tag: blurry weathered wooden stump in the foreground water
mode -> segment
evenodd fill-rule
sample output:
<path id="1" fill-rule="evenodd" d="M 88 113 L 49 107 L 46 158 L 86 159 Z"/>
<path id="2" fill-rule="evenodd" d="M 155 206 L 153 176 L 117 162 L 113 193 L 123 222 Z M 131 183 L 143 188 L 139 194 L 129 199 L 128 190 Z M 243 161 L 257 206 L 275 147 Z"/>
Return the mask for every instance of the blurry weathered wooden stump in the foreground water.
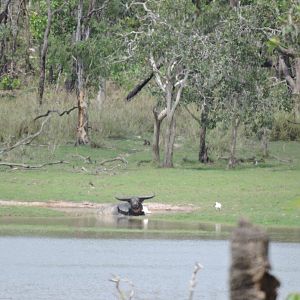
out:
<path id="1" fill-rule="evenodd" d="M 231 238 L 231 300 L 274 300 L 279 281 L 269 273 L 269 239 L 260 228 L 241 220 Z"/>

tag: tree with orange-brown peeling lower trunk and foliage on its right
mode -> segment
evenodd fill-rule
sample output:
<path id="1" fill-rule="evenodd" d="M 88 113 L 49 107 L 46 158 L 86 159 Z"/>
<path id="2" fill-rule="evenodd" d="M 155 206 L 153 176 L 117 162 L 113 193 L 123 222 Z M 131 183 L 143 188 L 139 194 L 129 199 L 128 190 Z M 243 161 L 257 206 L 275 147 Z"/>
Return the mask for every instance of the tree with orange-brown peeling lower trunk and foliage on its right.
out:
<path id="1" fill-rule="evenodd" d="M 87 87 L 99 85 L 99 78 L 101 81 L 118 70 L 110 62 L 118 51 L 114 34 L 125 16 L 124 9 L 120 0 L 78 0 L 73 55 L 77 75 L 77 145 L 89 143 Z"/>

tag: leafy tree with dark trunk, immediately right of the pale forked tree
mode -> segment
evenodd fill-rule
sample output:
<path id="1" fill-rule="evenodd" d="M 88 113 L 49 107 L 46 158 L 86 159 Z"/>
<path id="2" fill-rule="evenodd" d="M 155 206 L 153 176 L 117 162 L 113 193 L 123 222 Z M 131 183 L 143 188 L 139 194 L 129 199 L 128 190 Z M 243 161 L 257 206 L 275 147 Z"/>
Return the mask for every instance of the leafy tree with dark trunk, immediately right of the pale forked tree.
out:
<path id="1" fill-rule="evenodd" d="M 198 160 L 207 163 L 209 161 L 206 144 L 207 129 L 212 129 L 220 121 L 219 103 L 214 97 L 214 89 L 222 80 L 223 66 L 220 65 L 219 57 L 216 56 L 215 31 L 226 18 L 226 14 L 224 15 L 223 12 L 228 10 L 228 5 L 227 3 L 212 1 L 194 2 L 197 11 L 192 34 L 201 37 L 201 39 L 198 38 L 197 43 L 193 45 L 194 59 L 189 62 L 193 71 L 189 86 L 184 92 L 184 107 L 199 124 Z M 195 115 L 189 109 L 191 103 L 196 104 L 199 115 Z"/>

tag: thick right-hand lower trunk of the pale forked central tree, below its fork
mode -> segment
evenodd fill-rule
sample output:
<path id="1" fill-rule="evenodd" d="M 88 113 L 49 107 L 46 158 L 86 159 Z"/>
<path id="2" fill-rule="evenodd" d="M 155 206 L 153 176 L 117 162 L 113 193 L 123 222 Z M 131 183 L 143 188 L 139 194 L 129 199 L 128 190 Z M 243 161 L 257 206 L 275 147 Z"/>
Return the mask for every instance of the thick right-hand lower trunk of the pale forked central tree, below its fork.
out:
<path id="1" fill-rule="evenodd" d="M 164 168 L 173 168 L 173 150 L 175 143 L 176 122 L 175 116 L 167 116 L 167 128 L 165 135 L 165 156 L 163 161 Z"/>

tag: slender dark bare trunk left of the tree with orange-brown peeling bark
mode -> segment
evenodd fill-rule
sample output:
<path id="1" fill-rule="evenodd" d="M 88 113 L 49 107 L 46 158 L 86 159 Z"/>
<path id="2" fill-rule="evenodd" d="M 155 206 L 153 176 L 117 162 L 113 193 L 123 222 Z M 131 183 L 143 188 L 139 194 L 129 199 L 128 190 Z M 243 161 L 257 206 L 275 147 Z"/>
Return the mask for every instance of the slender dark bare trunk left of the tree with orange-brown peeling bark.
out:
<path id="1" fill-rule="evenodd" d="M 38 102 L 39 105 L 43 104 L 43 95 L 45 89 L 45 77 L 46 77 L 46 57 L 48 51 L 48 39 L 51 29 L 52 23 L 52 11 L 51 11 L 51 1 L 47 0 L 47 8 L 48 8 L 48 20 L 47 26 L 44 32 L 44 41 L 43 46 L 40 52 L 40 77 L 39 77 L 39 86 L 38 86 Z"/>

